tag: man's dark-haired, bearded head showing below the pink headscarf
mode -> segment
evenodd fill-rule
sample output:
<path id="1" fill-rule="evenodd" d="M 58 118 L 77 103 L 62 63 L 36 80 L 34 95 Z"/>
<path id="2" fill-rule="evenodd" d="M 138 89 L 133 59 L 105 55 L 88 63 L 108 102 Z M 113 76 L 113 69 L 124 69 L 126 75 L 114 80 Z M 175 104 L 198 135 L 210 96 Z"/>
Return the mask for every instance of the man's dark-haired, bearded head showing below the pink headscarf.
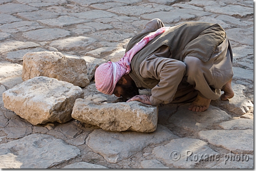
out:
<path id="1" fill-rule="evenodd" d="M 124 75 L 117 82 L 113 94 L 117 97 L 122 96 L 123 98 L 129 99 L 135 95 L 139 95 L 139 89 L 129 75 Z"/>

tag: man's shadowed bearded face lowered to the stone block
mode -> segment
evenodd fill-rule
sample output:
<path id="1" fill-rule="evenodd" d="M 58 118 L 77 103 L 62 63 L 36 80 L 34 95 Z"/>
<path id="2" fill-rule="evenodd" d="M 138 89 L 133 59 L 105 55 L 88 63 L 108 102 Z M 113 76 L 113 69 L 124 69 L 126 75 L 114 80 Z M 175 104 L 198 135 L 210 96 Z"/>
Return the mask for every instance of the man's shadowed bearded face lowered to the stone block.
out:
<path id="1" fill-rule="evenodd" d="M 127 84 L 117 83 L 113 94 L 119 98 L 122 96 L 123 98 L 129 99 L 135 95 L 139 95 L 139 89 L 133 82 L 127 82 Z"/>

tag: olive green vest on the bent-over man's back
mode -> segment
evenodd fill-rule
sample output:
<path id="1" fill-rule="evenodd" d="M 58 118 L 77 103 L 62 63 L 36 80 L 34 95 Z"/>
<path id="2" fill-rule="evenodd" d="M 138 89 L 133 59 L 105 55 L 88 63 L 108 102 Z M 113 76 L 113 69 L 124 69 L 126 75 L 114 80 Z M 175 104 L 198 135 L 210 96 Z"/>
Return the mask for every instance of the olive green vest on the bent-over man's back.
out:
<path id="1" fill-rule="evenodd" d="M 151 30 L 136 35 L 128 43 L 126 52 L 137 42 L 144 38 Z M 147 56 L 153 53 L 160 46 L 167 45 L 170 48 L 170 58 L 183 61 L 186 56 L 198 57 L 208 62 L 216 47 L 226 38 L 226 33 L 219 24 L 207 22 L 184 22 L 171 27 L 164 33 L 156 36 L 147 45 L 137 52 L 131 60 L 131 72 L 129 76 L 135 81 L 137 87 L 153 88 L 159 80 L 144 79 L 139 74 L 139 65 Z"/>

